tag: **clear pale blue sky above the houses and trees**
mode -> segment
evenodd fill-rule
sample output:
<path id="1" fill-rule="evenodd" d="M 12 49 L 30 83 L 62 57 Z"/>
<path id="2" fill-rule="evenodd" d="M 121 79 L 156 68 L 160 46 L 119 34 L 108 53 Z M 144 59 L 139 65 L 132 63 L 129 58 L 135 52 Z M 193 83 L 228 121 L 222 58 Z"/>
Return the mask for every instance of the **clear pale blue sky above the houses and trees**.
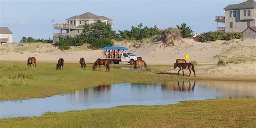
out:
<path id="1" fill-rule="evenodd" d="M 65 19 L 91 12 L 114 21 L 114 30 L 131 26 L 157 25 L 160 29 L 186 23 L 196 33 L 216 30 L 215 16 L 224 16 L 228 4 L 246 0 L 0 0 L 0 26 L 14 33 L 14 42 L 23 36 L 52 38 L 52 19 Z"/>

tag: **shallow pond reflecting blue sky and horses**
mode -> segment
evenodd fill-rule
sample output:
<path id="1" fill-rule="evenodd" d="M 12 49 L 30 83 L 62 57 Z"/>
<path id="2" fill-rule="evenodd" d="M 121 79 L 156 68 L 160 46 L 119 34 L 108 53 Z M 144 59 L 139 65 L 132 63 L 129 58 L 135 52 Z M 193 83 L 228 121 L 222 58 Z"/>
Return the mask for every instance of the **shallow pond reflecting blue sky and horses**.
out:
<path id="1" fill-rule="evenodd" d="M 0 102 L 0 118 L 40 116 L 121 105 L 164 105 L 182 100 L 256 97 L 255 82 L 180 81 L 100 85 L 65 95 Z"/>

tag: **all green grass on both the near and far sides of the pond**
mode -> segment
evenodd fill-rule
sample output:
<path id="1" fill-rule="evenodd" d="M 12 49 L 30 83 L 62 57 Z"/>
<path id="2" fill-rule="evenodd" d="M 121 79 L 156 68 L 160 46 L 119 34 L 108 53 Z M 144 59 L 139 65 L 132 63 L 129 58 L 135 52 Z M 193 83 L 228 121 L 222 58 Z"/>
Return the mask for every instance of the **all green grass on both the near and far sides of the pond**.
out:
<path id="1" fill-rule="evenodd" d="M 147 70 L 118 69 L 92 71 L 92 65 L 55 63 L 0 63 L 0 100 L 47 97 L 86 87 L 112 83 L 163 82 L 179 80 L 176 75 L 161 75 L 172 66 L 149 65 Z M 194 79 L 194 77 L 190 77 Z M 40 117 L 0 119 L 0 127 L 255 127 L 256 99 L 214 99 L 187 101 L 174 105 L 122 106 L 111 109 L 46 113 Z"/>

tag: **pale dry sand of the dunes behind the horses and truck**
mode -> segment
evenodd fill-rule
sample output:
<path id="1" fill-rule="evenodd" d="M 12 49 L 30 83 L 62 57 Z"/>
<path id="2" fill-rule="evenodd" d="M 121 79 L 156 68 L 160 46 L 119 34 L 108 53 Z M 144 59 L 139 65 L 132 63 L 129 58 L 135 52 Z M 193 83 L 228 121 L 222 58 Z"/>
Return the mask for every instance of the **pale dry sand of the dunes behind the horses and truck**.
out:
<path id="1" fill-rule="evenodd" d="M 161 41 L 134 43 L 129 41 L 115 42 L 115 46 L 129 47 L 128 51 L 141 56 L 147 64 L 171 65 L 177 58 L 196 60 L 197 75 L 201 78 L 230 78 L 256 80 L 256 40 L 217 41 L 208 43 L 195 42 L 193 39 L 183 39 L 184 43 L 174 46 L 165 46 Z M 57 62 L 64 58 L 65 62 L 78 63 L 80 58 L 86 62 L 95 62 L 97 58 L 104 58 L 102 50 L 91 50 L 87 45 L 71 47 L 70 50 L 60 51 L 51 44 L 5 44 L 0 45 L 1 61 L 26 61 L 28 57 L 36 57 L 38 62 Z M 218 66 L 219 58 L 234 59 L 246 58 L 244 63 L 230 63 Z M 169 71 L 177 73 L 177 70 Z M 188 71 L 185 71 L 186 74 Z"/>

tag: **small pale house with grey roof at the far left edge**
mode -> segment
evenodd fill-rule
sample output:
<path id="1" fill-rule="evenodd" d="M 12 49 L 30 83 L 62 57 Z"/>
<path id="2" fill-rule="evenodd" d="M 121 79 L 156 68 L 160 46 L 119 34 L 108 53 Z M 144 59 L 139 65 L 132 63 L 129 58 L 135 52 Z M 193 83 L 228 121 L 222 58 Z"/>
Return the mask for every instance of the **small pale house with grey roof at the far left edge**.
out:
<path id="1" fill-rule="evenodd" d="M 14 34 L 7 27 L 0 27 L 0 43 L 12 43 L 12 37 Z"/>

